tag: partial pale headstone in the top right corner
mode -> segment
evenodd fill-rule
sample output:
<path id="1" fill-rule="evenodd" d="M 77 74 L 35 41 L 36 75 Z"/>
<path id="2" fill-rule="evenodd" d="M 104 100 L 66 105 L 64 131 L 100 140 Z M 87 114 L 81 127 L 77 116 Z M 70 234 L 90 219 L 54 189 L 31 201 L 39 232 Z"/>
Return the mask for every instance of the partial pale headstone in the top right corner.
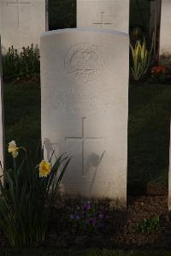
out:
<path id="1" fill-rule="evenodd" d="M 170 57 L 171 62 L 171 1 L 162 0 L 160 55 Z"/>

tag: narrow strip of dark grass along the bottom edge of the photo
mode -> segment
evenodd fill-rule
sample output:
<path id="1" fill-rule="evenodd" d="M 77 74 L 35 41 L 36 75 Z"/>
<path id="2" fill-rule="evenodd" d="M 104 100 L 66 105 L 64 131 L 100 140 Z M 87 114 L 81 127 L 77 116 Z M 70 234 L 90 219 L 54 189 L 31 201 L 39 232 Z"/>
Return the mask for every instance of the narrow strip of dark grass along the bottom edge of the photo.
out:
<path id="1" fill-rule="evenodd" d="M 39 249 L 4 249 L 0 256 L 169 256 L 170 252 L 164 251 L 116 251 L 107 249 L 85 249 L 85 250 L 39 250 Z"/>

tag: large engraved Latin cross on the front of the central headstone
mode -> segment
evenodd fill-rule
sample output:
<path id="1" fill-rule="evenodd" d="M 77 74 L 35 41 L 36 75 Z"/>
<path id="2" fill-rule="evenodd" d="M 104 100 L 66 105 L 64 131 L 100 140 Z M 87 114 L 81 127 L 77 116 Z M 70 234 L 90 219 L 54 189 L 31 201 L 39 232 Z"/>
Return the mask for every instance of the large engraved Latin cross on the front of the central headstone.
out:
<path id="1" fill-rule="evenodd" d="M 102 140 L 103 137 L 86 137 L 85 136 L 85 119 L 86 117 L 82 117 L 82 135 L 81 137 L 66 137 L 66 140 L 75 141 L 79 140 L 82 144 L 81 146 L 81 154 L 82 154 L 82 176 L 85 177 L 85 141 L 87 140 Z"/>

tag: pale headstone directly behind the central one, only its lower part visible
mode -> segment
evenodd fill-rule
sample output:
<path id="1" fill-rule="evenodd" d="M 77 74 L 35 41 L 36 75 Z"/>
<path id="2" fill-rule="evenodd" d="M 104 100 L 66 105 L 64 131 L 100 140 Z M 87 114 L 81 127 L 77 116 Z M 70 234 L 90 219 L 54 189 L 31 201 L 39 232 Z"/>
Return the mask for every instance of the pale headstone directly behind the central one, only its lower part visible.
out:
<path id="1" fill-rule="evenodd" d="M 128 33 L 129 0 L 77 0 L 77 27 Z"/>

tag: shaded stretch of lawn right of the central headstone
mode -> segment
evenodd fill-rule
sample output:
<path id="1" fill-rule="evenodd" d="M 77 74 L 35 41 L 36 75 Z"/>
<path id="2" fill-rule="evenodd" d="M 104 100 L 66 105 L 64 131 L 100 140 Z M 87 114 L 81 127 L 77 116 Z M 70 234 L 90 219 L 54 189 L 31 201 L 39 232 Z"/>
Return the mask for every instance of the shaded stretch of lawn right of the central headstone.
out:
<path id="1" fill-rule="evenodd" d="M 128 182 L 167 183 L 171 86 L 131 86 Z"/>

